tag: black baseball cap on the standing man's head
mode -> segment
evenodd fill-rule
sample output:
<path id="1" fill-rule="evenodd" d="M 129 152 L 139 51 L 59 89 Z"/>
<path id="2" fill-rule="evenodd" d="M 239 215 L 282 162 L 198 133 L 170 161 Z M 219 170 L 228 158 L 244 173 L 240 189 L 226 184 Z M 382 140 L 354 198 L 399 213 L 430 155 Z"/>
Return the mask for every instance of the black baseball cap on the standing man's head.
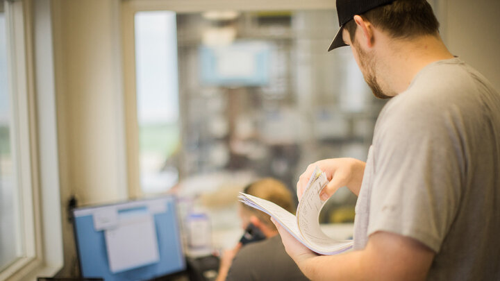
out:
<path id="1" fill-rule="evenodd" d="M 340 29 L 331 42 L 328 51 L 340 46 L 347 46 L 342 38 L 342 31 L 344 30 L 345 24 L 353 19 L 355 15 L 362 15 L 369 10 L 392 2 L 394 2 L 394 0 L 337 0 L 337 15 Z"/>

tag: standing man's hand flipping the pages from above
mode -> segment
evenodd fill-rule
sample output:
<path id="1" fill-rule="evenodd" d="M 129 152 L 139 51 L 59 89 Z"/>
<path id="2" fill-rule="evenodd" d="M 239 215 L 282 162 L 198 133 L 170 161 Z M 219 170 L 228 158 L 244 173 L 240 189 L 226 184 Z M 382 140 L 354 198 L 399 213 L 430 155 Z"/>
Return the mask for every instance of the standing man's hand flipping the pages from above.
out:
<path id="1" fill-rule="evenodd" d="M 310 164 L 306 171 L 299 177 L 299 182 L 297 182 L 297 197 L 299 201 L 315 167 L 319 167 L 319 169 L 324 171 L 326 178 L 330 181 L 324 187 L 321 194 L 319 194 L 322 200 L 330 198 L 340 187 L 347 187 L 353 194 L 358 196 L 361 182 L 363 182 L 363 173 L 365 173 L 365 164 L 365 162 L 354 158 L 325 159 Z"/>

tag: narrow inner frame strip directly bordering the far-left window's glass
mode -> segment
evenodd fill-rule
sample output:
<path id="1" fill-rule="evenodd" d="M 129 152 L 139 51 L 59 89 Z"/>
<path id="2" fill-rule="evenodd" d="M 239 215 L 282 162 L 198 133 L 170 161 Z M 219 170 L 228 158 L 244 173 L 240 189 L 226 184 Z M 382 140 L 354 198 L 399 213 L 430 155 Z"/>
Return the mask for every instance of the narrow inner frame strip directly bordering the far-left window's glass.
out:
<path id="1" fill-rule="evenodd" d="M 33 147 L 31 145 L 33 128 L 31 126 L 31 96 L 28 94 L 28 65 L 26 64 L 26 12 L 28 5 L 22 1 L 4 1 L 7 35 L 7 67 L 8 67 L 8 92 L 10 96 L 10 146 L 12 162 L 15 167 L 14 185 L 19 188 L 17 200 L 19 203 L 19 219 L 22 229 L 22 244 L 24 255 L 1 271 L 0 279 L 7 278 L 13 273 L 26 268 L 36 267 L 40 253 L 40 243 L 37 243 L 39 233 L 36 224 L 33 201 Z"/>

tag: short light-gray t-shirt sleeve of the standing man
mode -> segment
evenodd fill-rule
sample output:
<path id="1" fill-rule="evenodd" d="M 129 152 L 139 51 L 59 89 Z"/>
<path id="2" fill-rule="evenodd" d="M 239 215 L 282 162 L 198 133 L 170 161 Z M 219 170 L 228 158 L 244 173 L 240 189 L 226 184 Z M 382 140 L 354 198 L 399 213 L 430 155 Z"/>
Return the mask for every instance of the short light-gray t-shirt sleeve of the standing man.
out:
<path id="1" fill-rule="evenodd" d="M 368 235 L 386 231 L 440 250 L 465 171 L 460 120 L 437 105 L 397 108 L 374 137 Z"/>

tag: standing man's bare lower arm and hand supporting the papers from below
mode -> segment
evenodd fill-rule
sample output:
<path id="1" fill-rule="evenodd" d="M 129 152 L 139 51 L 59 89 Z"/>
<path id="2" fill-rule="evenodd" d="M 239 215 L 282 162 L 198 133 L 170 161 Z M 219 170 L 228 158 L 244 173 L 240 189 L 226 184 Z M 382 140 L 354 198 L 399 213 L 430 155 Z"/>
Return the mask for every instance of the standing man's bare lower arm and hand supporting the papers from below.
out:
<path id="1" fill-rule="evenodd" d="M 364 250 L 316 255 L 276 224 L 285 249 L 310 280 L 425 280 L 435 253 L 419 241 L 375 232 Z"/>

